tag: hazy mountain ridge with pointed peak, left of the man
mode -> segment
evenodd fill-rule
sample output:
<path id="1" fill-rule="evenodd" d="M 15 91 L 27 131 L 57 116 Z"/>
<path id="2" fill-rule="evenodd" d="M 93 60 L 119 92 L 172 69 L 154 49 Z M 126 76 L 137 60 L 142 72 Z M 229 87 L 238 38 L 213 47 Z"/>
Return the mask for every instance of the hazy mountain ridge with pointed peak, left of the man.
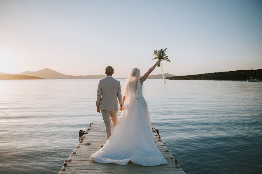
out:
<path id="1" fill-rule="evenodd" d="M 103 79 L 106 77 L 105 75 L 72 76 L 56 72 L 49 68 L 39 71 L 25 71 L 20 73 L 20 75 L 36 76 L 45 79 Z"/>

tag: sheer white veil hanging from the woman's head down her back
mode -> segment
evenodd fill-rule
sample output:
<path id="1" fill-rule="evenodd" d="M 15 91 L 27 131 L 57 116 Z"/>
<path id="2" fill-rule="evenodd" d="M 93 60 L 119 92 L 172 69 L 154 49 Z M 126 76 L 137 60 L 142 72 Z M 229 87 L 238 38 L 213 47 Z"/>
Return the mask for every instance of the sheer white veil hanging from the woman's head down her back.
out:
<path id="1" fill-rule="evenodd" d="M 135 98 L 137 90 L 137 80 L 140 77 L 140 70 L 138 68 L 132 68 L 125 81 L 125 103 L 129 104 L 132 99 Z"/>

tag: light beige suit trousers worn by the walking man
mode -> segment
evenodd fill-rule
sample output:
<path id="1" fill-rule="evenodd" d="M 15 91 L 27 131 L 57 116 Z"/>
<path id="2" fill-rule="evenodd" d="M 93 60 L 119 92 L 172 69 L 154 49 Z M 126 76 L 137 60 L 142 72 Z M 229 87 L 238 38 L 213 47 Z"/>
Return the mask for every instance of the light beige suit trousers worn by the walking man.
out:
<path id="1" fill-rule="evenodd" d="M 111 120 L 112 120 L 114 128 L 116 127 L 118 123 L 117 111 L 101 111 L 101 112 L 102 112 L 103 120 L 105 122 L 107 139 L 109 139 L 109 137 L 112 134 Z"/>

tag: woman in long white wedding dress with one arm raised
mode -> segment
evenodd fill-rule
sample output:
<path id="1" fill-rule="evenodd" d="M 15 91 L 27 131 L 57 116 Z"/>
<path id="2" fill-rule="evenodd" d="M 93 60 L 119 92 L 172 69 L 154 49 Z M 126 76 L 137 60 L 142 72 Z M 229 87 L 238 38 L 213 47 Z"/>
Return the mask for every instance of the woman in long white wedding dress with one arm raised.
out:
<path id="1" fill-rule="evenodd" d="M 143 82 L 158 64 L 160 61 L 141 78 L 138 68 L 131 70 L 123 96 L 126 107 L 104 147 L 91 155 L 91 159 L 98 163 L 120 165 L 126 165 L 129 161 L 143 166 L 167 163 L 152 136 L 148 106 L 142 94 Z"/>

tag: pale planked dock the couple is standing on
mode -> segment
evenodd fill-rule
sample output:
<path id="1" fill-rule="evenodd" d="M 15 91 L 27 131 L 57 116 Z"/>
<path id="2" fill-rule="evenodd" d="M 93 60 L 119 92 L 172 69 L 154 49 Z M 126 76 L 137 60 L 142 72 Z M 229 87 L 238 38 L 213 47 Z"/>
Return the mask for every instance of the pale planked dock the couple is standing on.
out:
<path id="1" fill-rule="evenodd" d="M 122 166 L 118 164 L 100 164 L 90 161 L 89 157 L 97 152 L 107 141 L 104 122 L 90 123 L 85 131 L 79 131 L 79 143 L 71 153 L 70 157 L 65 161 L 59 174 L 64 173 L 174 173 L 185 174 L 180 168 L 177 160 L 171 155 L 161 137 L 158 130 L 152 127 L 153 137 L 158 149 L 168 161 L 168 164 L 158 166 L 141 166 L 129 162 Z M 112 127 L 113 130 L 113 127 Z M 136 140 L 134 140 L 136 141 Z"/>

